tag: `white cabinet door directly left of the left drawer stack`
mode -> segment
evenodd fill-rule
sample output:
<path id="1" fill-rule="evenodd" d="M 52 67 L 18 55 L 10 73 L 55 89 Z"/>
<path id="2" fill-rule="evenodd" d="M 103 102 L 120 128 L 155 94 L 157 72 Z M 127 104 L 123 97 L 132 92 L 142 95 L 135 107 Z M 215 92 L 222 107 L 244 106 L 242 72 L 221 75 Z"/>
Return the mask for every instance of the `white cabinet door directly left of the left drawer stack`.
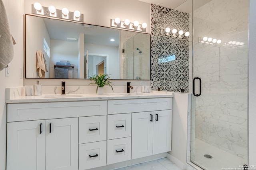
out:
<path id="1" fill-rule="evenodd" d="M 78 170 L 78 117 L 46 120 L 46 170 Z"/>

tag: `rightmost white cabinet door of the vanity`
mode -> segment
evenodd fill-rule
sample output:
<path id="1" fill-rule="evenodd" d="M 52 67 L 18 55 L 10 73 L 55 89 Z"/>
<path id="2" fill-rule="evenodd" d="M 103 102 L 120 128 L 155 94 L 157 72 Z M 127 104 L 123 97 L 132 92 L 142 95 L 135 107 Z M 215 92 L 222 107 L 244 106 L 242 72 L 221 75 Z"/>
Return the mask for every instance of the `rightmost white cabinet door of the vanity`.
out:
<path id="1" fill-rule="evenodd" d="M 154 111 L 153 154 L 171 150 L 172 110 Z"/>

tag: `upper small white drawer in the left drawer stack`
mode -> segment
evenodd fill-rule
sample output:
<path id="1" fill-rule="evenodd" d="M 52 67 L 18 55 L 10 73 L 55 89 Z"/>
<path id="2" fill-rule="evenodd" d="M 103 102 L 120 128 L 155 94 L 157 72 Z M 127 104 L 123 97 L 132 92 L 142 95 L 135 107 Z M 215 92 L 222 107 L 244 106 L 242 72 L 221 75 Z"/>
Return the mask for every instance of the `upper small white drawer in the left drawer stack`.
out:
<path id="1" fill-rule="evenodd" d="M 106 141 L 106 121 L 106 115 L 79 117 L 79 143 Z"/>

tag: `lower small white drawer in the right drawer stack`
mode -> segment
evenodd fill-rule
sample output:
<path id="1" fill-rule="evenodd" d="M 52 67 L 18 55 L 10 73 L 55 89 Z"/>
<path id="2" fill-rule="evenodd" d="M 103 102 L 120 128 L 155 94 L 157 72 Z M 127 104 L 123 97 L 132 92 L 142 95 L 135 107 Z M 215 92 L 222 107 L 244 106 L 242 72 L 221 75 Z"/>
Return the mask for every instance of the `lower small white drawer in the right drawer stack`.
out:
<path id="1" fill-rule="evenodd" d="M 131 159 L 131 137 L 108 140 L 108 164 Z"/>

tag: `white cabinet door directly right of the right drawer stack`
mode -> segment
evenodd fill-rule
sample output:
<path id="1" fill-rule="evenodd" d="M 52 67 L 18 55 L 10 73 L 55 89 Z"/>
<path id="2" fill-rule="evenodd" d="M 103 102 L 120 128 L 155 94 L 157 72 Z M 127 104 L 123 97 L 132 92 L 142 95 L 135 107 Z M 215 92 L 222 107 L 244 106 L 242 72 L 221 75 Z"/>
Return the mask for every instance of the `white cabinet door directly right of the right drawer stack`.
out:
<path id="1" fill-rule="evenodd" d="M 132 159 L 152 155 L 153 113 L 132 113 Z"/>

